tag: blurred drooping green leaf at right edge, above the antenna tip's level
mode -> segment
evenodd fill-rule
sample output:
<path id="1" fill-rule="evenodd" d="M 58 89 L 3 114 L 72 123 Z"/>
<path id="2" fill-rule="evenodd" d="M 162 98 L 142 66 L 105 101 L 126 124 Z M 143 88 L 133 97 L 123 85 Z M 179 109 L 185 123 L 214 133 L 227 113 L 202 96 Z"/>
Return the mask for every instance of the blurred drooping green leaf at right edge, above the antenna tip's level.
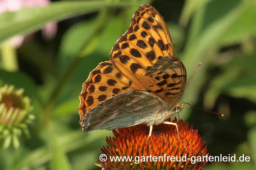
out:
<path id="1" fill-rule="evenodd" d="M 222 73 L 214 77 L 204 96 L 204 106 L 211 109 L 220 93 L 256 102 L 256 53 L 235 55 L 221 66 Z"/>

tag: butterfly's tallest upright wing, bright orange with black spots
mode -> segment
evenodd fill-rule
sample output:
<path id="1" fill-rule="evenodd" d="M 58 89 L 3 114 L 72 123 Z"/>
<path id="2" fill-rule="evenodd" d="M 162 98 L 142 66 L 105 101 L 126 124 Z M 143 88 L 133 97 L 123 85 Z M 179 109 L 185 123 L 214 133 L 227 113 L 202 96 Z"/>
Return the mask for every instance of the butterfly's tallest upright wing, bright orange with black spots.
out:
<path id="1" fill-rule="evenodd" d="M 154 7 L 143 5 L 135 12 L 127 32 L 113 46 L 110 59 L 127 77 L 148 87 L 155 81 L 144 74 L 168 55 L 174 55 L 174 50 L 166 24 Z"/>

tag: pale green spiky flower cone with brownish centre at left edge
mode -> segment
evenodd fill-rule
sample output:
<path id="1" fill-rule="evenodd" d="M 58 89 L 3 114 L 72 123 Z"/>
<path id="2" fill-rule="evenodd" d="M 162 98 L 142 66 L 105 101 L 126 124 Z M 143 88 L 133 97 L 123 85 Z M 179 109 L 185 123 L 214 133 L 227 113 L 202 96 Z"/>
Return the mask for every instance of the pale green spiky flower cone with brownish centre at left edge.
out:
<path id="1" fill-rule="evenodd" d="M 9 147 L 11 143 L 18 148 L 18 138 L 22 132 L 29 136 L 27 124 L 35 118 L 30 114 L 30 99 L 22 96 L 24 89 L 14 91 L 14 88 L 14 85 L 0 88 L 0 145 L 4 148 Z"/>

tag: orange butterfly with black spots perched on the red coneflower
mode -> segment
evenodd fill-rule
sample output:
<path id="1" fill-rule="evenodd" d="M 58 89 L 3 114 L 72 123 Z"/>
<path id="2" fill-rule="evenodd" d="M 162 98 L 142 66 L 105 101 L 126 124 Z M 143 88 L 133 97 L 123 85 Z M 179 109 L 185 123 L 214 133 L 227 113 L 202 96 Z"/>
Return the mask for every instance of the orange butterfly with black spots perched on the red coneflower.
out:
<path id="1" fill-rule="evenodd" d="M 86 132 L 166 122 L 180 101 L 187 73 L 160 13 L 146 4 L 134 13 L 127 32 L 117 40 L 110 61 L 90 72 L 80 94 L 80 124 Z M 178 128 L 177 128 L 178 131 Z"/>

